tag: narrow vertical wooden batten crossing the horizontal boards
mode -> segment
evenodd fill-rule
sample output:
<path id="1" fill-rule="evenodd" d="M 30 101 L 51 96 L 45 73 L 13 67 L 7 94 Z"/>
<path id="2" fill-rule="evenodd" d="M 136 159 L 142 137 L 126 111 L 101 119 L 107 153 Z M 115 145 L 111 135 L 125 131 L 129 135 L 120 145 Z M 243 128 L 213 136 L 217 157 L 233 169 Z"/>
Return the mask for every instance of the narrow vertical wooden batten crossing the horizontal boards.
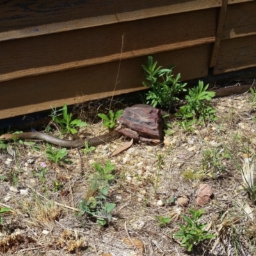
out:
<path id="1" fill-rule="evenodd" d="M 220 9 L 220 15 L 219 15 L 220 17 L 218 19 L 218 28 L 216 32 L 216 40 L 214 42 L 214 48 L 212 51 L 210 67 L 214 67 L 216 65 L 216 61 L 218 58 L 218 52 L 220 49 L 220 40 L 221 40 L 221 35 L 223 33 L 223 27 L 225 23 L 226 12 L 227 12 L 227 4 L 228 4 L 228 0 L 222 0 L 222 6 Z"/>

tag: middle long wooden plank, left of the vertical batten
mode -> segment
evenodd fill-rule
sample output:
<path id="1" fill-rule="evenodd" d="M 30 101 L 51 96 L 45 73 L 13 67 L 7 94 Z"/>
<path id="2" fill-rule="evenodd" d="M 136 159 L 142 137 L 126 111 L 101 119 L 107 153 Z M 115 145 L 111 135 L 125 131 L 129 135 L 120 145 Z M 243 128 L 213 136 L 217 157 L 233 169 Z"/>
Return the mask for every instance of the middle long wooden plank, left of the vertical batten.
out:
<path id="1" fill-rule="evenodd" d="M 163 26 L 164 24 L 164 26 Z M 216 10 L 207 9 L 0 42 L 0 81 L 85 67 L 214 42 Z"/>

